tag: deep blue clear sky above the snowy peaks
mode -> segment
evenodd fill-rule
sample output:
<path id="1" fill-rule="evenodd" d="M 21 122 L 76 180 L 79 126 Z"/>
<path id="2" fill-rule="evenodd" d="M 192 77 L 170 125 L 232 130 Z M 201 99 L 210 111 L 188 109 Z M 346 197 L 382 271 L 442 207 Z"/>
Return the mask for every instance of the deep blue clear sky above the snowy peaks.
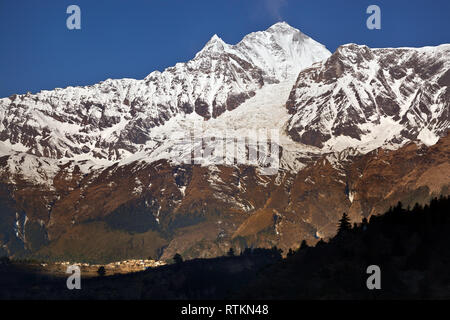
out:
<path id="1" fill-rule="evenodd" d="M 71 4 L 81 30 L 66 28 Z M 381 30 L 366 28 L 370 4 Z M 141 79 L 191 59 L 214 33 L 234 44 L 279 20 L 330 51 L 450 43 L 448 0 L 0 0 L 0 97 Z"/>

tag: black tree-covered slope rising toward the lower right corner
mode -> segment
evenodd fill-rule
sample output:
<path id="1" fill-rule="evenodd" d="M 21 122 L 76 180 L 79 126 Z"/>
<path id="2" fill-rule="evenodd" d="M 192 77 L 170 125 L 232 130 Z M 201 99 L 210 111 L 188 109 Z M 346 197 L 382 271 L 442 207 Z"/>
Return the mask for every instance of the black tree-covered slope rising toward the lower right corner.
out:
<path id="1" fill-rule="evenodd" d="M 303 243 L 239 292 L 264 299 L 450 298 L 450 199 L 424 207 L 399 203 L 382 216 L 349 227 L 315 247 Z M 344 222 L 344 223 L 343 223 Z M 347 227 L 346 227 L 347 226 Z M 381 270 L 381 290 L 369 290 L 367 267 Z"/>

